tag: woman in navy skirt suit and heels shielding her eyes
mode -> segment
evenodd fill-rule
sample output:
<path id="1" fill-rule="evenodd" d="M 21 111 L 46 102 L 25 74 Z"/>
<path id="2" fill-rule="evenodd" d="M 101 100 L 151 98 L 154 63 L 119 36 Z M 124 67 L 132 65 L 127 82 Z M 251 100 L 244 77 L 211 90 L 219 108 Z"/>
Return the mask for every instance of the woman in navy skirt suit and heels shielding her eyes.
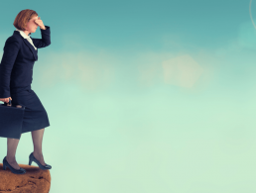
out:
<path id="1" fill-rule="evenodd" d="M 13 25 L 16 30 L 5 42 L 0 64 L 0 100 L 5 102 L 4 105 L 11 100 L 12 106 L 25 106 L 21 134 L 31 132 L 34 144 L 34 151 L 29 155 L 29 165 L 35 161 L 41 169 L 51 169 L 52 166 L 45 163 L 42 153 L 43 134 L 50 122 L 39 97 L 31 89 L 38 48 L 51 45 L 50 27 L 45 26 L 37 12 L 30 9 L 22 10 Z M 31 38 L 30 34 L 35 33 L 38 27 L 42 39 Z M 15 158 L 19 141 L 7 139 L 7 156 L 3 159 L 3 168 L 7 166 L 13 173 L 23 174 L 26 170 L 18 165 Z"/>

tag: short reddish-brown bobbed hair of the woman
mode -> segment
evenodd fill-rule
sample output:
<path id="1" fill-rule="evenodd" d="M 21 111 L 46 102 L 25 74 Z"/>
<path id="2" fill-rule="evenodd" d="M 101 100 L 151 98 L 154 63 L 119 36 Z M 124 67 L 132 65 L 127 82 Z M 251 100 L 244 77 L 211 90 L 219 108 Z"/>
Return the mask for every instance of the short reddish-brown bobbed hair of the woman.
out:
<path id="1" fill-rule="evenodd" d="M 31 18 L 38 16 L 38 13 L 31 9 L 22 10 L 14 20 L 14 27 L 21 31 L 26 31 L 27 23 Z M 31 33 L 30 33 L 31 34 Z"/>

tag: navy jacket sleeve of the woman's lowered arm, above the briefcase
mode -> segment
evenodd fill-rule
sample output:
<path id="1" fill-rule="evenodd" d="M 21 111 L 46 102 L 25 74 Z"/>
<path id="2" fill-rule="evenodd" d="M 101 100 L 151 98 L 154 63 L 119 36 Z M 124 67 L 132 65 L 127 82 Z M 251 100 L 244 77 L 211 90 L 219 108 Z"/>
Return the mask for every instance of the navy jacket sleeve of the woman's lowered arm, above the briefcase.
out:
<path id="1" fill-rule="evenodd" d="M 20 43 L 15 37 L 5 42 L 4 53 L 0 63 L 0 98 L 10 97 L 10 79 L 13 64 L 20 50 Z"/>

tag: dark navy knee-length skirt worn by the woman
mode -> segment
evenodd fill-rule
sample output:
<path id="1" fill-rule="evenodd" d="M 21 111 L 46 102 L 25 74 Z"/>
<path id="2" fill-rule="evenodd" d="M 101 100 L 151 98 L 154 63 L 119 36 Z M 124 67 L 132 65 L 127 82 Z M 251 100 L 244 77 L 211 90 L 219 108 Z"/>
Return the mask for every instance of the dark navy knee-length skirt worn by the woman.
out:
<path id="1" fill-rule="evenodd" d="M 37 94 L 31 89 L 31 85 L 19 89 L 11 88 L 10 92 L 11 98 L 13 99 L 12 106 L 25 106 L 22 134 L 50 126 L 47 111 Z M 5 103 L 5 105 L 7 105 L 7 103 Z"/>

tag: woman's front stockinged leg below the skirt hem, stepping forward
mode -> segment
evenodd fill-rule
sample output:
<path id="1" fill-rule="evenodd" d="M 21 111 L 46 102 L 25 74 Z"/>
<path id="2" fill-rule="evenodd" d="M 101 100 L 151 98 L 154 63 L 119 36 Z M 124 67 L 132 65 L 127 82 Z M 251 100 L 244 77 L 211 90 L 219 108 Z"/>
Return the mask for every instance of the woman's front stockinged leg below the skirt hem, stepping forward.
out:
<path id="1" fill-rule="evenodd" d="M 31 132 L 33 144 L 34 144 L 33 154 L 36 157 L 36 159 L 40 161 L 42 165 L 46 165 L 44 161 L 43 152 L 42 152 L 42 142 L 43 142 L 44 132 L 45 132 L 45 128 Z"/>

